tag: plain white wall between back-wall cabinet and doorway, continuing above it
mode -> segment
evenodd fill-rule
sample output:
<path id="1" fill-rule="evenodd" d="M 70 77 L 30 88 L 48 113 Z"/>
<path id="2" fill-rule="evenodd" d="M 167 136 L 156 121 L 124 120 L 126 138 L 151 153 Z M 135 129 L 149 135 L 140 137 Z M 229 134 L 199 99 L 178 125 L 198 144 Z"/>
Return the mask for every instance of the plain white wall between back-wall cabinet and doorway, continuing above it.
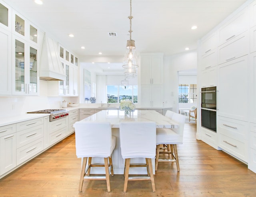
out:
<path id="1" fill-rule="evenodd" d="M 172 56 L 164 56 L 164 103 L 178 112 L 178 71 L 197 69 L 197 51 L 188 51 Z"/>

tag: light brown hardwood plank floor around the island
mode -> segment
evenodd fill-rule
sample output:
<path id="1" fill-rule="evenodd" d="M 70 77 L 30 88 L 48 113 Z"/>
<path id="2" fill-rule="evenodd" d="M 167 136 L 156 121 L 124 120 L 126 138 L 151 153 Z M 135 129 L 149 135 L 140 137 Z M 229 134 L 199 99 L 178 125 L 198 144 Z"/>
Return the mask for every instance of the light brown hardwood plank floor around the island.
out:
<path id="1" fill-rule="evenodd" d="M 184 143 L 178 145 L 180 172 L 175 163 L 160 162 L 156 192 L 150 181 L 129 181 L 123 193 L 123 175 L 106 181 L 86 180 L 78 192 L 81 160 L 76 158 L 72 134 L 40 156 L 0 179 L 4 197 L 255 197 L 256 174 L 242 162 L 196 140 L 196 126 L 186 123 Z"/>

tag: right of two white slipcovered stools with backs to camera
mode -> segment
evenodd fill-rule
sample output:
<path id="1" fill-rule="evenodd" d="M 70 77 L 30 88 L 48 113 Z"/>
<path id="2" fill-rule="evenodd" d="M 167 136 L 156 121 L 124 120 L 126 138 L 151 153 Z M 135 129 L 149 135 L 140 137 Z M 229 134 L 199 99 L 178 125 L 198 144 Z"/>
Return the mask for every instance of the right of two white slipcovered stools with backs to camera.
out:
<path id="1" fill-rule="evenodd" d="M 151 180 L 153 192 L 156 191 L 152 167 L 152 158 L 156 156 L 156 123 L 121 122 L 120 146 L 122 158 L 125 159 L 124 192 L 128 181 L 148 179 Z M 146 164 L 130 164 L 131 158 L 146 158 Z M 147 167 L 148 175 L 129 177 L 130 167 Z"/>

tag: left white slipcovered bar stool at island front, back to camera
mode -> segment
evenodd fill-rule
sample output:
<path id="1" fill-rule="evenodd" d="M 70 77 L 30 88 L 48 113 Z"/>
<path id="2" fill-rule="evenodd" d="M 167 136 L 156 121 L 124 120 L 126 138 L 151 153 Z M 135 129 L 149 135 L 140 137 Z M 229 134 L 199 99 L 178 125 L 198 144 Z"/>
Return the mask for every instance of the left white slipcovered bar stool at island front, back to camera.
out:
<path id="1" fill-rule="evenodd" d="M 82 158 L 79 191 L 82 191 L 85 179 L 106 179 L 107 188 L 110 191 L 109 167 L 111 167 L 111 175 L 113 176 L 111 154 L 116 146 L 116 137 L 111 134 L 110 122 L 76 122 L 74 128 L 76 156 Z M 104 164 L 92 164 L 93 157 L 104 158 Z M 87 159 L 88 166 L 86 168 Z M 91 167 L 105 167 L 105 176 L 90 176 Z"/>

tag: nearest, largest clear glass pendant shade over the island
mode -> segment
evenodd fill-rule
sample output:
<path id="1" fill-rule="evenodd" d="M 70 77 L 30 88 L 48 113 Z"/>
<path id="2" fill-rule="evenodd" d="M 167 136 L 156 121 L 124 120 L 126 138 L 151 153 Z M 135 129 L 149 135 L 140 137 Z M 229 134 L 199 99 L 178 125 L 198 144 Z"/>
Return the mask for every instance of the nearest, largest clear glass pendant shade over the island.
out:
<path id="1" fill-rule="evenodd" d="M 136 69 L 138 68 L 137 65 L 137 55 L 135 49 L 135 41 L 128 40 L 126 45 L 126 53 L 124 55 L 124 69 Z"/>

